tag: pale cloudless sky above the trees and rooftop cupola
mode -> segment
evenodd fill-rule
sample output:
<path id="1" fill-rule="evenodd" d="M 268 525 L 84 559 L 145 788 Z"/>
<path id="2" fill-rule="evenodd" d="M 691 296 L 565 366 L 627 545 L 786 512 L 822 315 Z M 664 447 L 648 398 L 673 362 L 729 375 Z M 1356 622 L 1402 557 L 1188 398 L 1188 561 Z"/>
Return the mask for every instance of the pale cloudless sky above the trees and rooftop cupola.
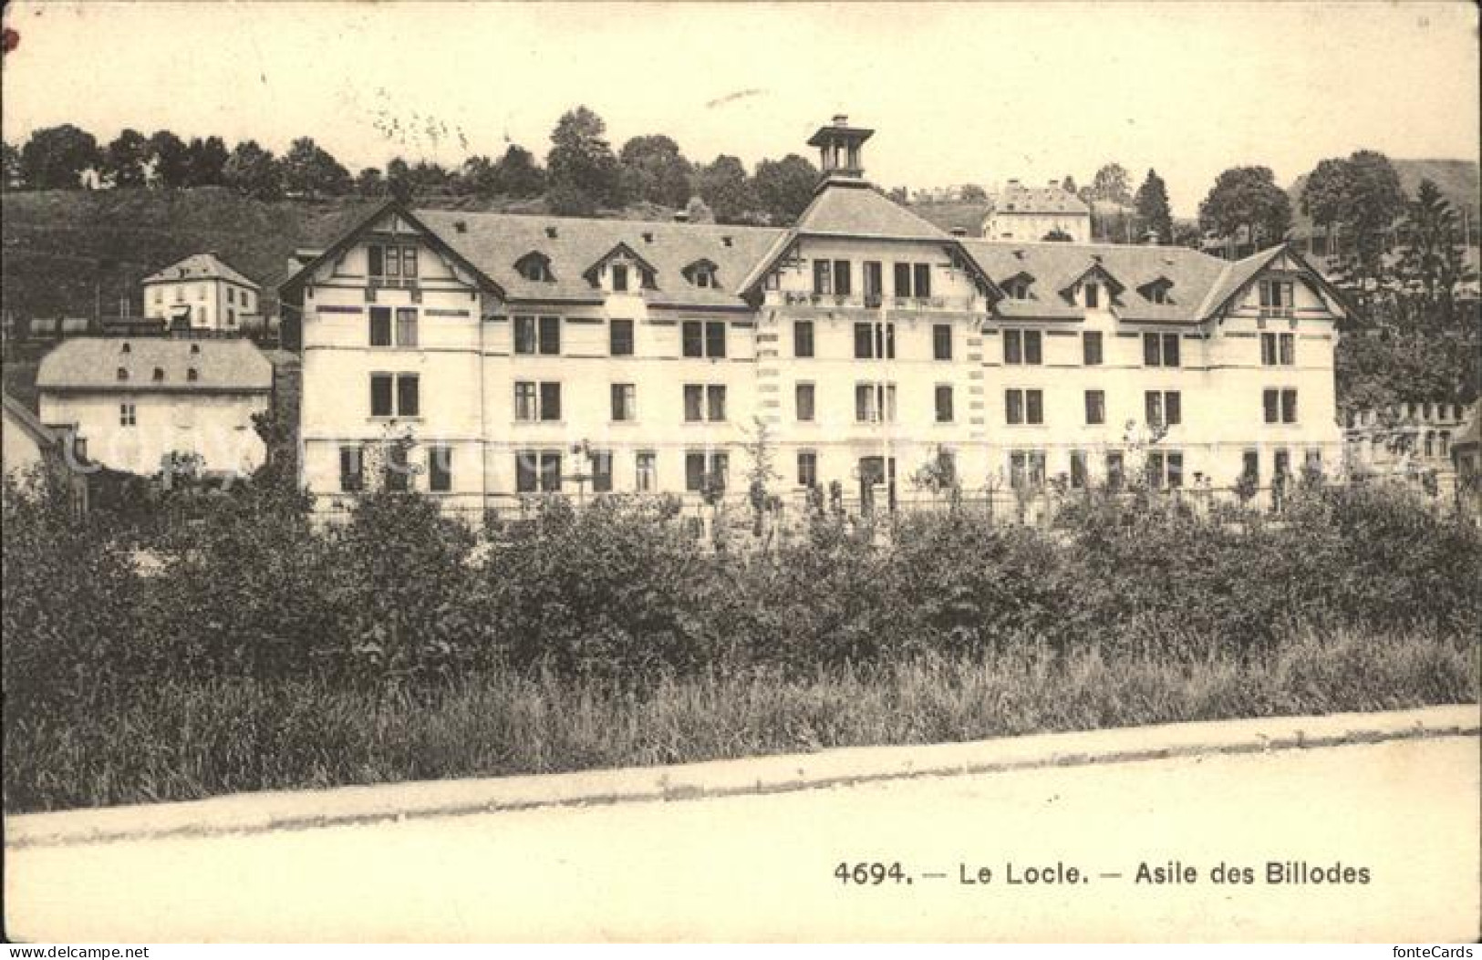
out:
<path id="1" fill-rule="evenodd" d="M 4 139 L 313 136 L 351 172 L 544 157 L 578 104 L 692 160 L 787 153 L 836 113 L 882 187 L 1149 167 L 1192 216 L 1220 170 L 1280 184 L 1360 148 L 1478 157 L 1470 3 L 16 1 Z"/>

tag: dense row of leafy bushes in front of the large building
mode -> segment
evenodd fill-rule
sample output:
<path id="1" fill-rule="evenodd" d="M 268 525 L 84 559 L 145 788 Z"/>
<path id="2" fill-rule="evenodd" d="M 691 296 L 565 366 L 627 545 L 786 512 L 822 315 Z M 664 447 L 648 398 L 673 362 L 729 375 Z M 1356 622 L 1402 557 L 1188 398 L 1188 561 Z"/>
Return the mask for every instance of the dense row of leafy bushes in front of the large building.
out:
<path id="1" fill-rule="evenodd" d="M 544 507 L 480 533 L 419 496 L 319 527 L 296 499 L 221 498 L 147 530 L 7 490 L 7 714 L 200 680 L 320 679 L 437 696 L 491 668 L 643 687 L 719 670 L 923 653 L 1246 655 L 1294 630 L 1482 633 L 1482 535 L 1375 489 L 1277 523 L 1091 499 L 1054 530 L 968 514 L 888 535 L 818 517 L 775 550 L 716 553 L 661 505 Z"/>

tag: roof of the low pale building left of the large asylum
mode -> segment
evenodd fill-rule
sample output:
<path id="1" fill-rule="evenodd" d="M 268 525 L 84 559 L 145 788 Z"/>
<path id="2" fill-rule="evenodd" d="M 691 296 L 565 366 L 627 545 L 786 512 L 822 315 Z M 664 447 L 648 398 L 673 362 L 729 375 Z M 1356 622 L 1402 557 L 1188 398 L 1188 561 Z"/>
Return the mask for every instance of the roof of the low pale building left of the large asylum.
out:
<path id="1" fill-rule="evenodd" d="M 127 370 L 124 381 L 119 379 L 120 367 Z M 156 369 L 165 372 L 163 381 L 154 381 Z M 188 376 L 193 369 L 194 381 Z M 247 339 L 79 336 L 41 357 L 36 385 L 127 393 L 267 393 L 273 388 L 273 364 Z"/>

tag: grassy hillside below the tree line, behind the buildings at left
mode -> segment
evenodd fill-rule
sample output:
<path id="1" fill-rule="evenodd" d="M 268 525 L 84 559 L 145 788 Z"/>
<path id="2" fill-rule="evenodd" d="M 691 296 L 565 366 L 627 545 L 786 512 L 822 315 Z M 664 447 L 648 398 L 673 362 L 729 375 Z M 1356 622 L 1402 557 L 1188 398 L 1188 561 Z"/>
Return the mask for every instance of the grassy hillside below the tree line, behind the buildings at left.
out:
<path id="1" fill-rule="evenodd" d="M 382 201 L 261 201 L 224 187 L 4 193 L 0 307 L 16 316 L 92 316 L 96 280 L 104 314 L 117 313 L 123 296 L 138 314 L 141 279 L 190 253 L 215 250 L 262 286 L 262 305 L 271 313 L 289 253 L 326 246 Z M 413 206 L 544 212 L 539 200 L 418 199 Z M 642 204 L 621 215 L 668 219 L 673 210 Z"/>

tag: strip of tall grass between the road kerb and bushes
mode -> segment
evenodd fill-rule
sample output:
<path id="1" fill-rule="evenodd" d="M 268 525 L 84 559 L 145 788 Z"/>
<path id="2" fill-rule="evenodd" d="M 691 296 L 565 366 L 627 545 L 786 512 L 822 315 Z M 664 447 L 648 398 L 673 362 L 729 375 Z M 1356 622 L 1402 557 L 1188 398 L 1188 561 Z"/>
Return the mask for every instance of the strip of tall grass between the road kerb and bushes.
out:
<path id="1" fill-rule="evenodd" d="M 671 674 L 636 692 L 553 673 L 436 687 L 191 680 L 102 710 L 12 717 L 10 812 L 247 790 L 648 766 L 828 747 L 931 744 L 1181 720 L 1476 701 L 1479 644 L 1454 636 L 1294 633 L 1184 662 L 1088 643 L 888 665 Z M 96 705 L 104 707 L 104 705 Z"/>

